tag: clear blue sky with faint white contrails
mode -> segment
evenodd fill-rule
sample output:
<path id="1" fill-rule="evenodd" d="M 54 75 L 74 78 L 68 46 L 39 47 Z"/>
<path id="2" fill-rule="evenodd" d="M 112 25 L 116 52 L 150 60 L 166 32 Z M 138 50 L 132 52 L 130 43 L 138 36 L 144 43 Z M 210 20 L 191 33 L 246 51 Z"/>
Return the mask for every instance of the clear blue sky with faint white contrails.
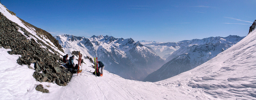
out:
<path id="1" fill-rule="evenodd" d="M 54 35 L 110 35 L 158 42 L 246 36 L 256 0 L 1 0 Z M 232 23 L 232 24 L 231 24 Z"/>

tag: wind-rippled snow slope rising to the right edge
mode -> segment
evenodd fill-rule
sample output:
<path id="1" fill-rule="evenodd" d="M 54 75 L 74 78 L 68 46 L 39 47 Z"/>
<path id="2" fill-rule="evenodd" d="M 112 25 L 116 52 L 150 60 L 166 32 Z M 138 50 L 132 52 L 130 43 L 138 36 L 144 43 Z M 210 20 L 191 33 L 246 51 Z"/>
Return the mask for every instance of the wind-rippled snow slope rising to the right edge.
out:
<path id="1" fill-rule="evenodd" d="M 167 80 L 219 99 L 256 99 L 256 31 L 206 63 Z M 195 91 L 192 91 L 195 92 Z"/>

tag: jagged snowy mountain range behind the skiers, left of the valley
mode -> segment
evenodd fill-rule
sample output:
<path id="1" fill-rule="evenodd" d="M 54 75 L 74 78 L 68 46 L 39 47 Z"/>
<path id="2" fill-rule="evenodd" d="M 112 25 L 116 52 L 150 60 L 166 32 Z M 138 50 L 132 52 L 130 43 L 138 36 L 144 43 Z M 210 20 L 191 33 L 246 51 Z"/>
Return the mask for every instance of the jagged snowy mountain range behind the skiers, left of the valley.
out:
<path id="1" fill-rule="evenodd" d="M 159 69 L 164 60 L 151 48 L 135 42 L 132 38 L 113 36 L 92 36 L 91 38 L 73 35 L 54 36 L 65 53 L 81 51 L 89 57 L 98 57 L 105 64 L 105 70 L 121 77 L 143 80 L 149 73 Z"/>

